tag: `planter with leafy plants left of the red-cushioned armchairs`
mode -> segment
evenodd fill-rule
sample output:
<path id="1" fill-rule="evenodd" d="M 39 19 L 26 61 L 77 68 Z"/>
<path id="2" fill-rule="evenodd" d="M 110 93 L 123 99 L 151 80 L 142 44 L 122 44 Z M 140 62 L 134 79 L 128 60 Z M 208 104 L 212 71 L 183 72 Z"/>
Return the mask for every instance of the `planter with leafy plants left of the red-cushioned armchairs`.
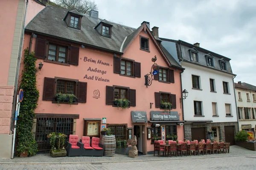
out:
<path id="1" fill-rule="evenodd" d="M 50 139 L 50 146 L 51 146 L 51 156 L 52 157 L 61 157 L 66 156 L 67 151 L 65 150 L 65 138 L 67 135 L 63 133 L 50 133 L 47 135 L 47 138 Z M 56 149 L 56 141 L 57 141 L 57 149 Z"/>

